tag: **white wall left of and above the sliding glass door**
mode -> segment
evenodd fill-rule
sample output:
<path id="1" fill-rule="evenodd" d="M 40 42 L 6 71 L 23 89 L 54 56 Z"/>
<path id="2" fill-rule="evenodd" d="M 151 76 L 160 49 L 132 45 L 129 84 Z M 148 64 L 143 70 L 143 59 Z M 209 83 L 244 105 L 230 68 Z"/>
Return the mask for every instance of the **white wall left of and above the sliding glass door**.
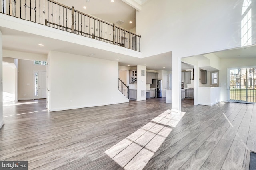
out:
<path id="1" fill-rule="evenodd" d="M 230 62 L 232 61 L 232 62 Z M 228 100 L 228 68 L 236 68 L 242 66 L 256 66 L 256 59 L 220 59 L 219 86 L 221 88 L 221 101 Z"/>

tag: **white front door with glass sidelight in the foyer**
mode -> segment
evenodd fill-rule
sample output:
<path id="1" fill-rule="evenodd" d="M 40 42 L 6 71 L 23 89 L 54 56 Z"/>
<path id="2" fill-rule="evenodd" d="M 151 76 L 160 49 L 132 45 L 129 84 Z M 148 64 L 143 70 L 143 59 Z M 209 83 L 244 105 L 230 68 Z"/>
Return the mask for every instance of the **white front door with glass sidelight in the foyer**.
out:
<path id="1" fill-rule="evenodd" d="M 35 99 L 46 98 L 46 71 L 34 72 Z"/>

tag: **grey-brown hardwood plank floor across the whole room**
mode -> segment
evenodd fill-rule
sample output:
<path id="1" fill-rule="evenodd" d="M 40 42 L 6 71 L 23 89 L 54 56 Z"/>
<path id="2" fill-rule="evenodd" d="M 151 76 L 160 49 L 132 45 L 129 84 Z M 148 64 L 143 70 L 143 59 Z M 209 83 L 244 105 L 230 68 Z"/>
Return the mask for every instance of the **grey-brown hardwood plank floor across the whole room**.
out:
<path id="1" fill-rule="evenodd" d="M 45 100 L 4 103 L 0 160 L 28 169 L 248 170 L 256 106 L 220 102 L 171 112 L 165 98 L 48 112 Z"/>

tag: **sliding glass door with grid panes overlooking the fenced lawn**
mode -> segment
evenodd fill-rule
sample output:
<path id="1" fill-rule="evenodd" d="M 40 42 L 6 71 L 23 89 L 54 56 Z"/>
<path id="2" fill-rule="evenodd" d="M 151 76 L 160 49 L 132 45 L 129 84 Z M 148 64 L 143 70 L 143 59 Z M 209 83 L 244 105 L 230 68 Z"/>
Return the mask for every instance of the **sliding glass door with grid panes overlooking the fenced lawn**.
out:
<path id="1" fill-rule="evenodd" d="M 229 101 L 256 102 L 256 66 L 228 69 Z"/>

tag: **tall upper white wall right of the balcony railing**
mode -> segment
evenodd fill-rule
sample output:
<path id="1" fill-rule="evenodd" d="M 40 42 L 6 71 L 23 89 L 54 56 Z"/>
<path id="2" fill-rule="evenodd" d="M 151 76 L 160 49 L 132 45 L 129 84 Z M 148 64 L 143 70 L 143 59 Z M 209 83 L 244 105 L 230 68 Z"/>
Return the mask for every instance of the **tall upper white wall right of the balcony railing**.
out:
<path id="1" fill-rule="evenodd" d="M 149 1 L 136 11 L 143 56 L 172 51 L 172 56 L 187 57 L 240 47 L 242 4 L 243 0 Z M 255 2 L 251 8 L 256 9 Z"/>

